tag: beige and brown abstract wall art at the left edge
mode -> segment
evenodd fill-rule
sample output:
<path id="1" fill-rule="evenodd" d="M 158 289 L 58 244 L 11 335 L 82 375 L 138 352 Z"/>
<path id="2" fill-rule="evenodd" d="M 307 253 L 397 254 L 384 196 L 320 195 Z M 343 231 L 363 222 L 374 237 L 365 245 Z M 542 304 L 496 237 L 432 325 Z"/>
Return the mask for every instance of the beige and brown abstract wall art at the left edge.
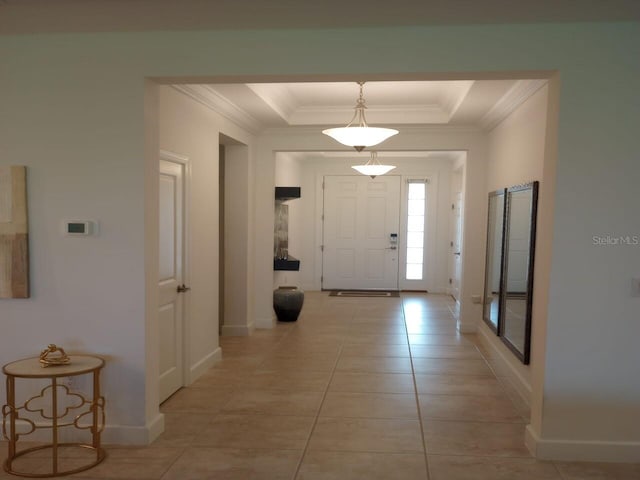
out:
<path id="1" fill-rule="evenodd" d="M 0 298 L 29 298 L 27 169 L 0 166 Z"/>

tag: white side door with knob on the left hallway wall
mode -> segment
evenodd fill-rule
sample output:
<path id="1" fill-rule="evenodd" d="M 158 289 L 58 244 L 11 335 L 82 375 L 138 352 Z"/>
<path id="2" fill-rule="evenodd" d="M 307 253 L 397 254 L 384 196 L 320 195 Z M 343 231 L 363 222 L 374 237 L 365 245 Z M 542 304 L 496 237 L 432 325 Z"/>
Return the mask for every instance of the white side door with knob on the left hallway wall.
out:
<path id="1" fill-rule="evenodd" d="M 184 165 L 160 160 L 159 341 L 160 402 L 184 385 Z"/>

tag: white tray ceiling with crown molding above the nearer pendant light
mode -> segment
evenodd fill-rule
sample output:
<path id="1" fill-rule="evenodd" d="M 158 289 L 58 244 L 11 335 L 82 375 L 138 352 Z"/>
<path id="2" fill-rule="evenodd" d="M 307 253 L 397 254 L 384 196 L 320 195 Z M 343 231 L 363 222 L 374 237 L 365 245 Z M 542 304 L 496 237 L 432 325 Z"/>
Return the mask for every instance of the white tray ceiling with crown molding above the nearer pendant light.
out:
<path id="1" fill-rule="evenodd" d="M 470 126 L 489 130 L 545 80 L 367 82 L 372 125 Z M 269 128 L 344 126 L 359 95 L 355 82 L 175 86 L 252 133 Z"/>

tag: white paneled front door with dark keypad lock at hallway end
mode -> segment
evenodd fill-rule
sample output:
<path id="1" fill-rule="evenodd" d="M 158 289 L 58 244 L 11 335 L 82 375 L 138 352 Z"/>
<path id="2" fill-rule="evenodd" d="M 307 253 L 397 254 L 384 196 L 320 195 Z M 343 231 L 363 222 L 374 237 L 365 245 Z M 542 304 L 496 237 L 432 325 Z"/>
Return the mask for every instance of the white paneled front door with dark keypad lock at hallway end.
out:
<path id="1" fill-rule="evenodd" d="M 322 288 L 397 289 L 399 220 L 399 176 L 325 176 Z"/>

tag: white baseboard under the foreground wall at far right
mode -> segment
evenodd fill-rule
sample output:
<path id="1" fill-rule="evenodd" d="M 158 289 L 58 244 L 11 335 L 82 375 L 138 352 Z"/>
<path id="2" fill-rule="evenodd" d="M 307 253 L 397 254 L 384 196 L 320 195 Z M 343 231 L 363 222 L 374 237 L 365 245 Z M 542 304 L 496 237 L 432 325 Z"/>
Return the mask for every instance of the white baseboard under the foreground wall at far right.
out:
<path id="1" fill-rule="evenodd" d="M 540 460 L 574 462 L 640 462 L 640 442 L 543 439 L 527 425 L 525 444 Z"/>

